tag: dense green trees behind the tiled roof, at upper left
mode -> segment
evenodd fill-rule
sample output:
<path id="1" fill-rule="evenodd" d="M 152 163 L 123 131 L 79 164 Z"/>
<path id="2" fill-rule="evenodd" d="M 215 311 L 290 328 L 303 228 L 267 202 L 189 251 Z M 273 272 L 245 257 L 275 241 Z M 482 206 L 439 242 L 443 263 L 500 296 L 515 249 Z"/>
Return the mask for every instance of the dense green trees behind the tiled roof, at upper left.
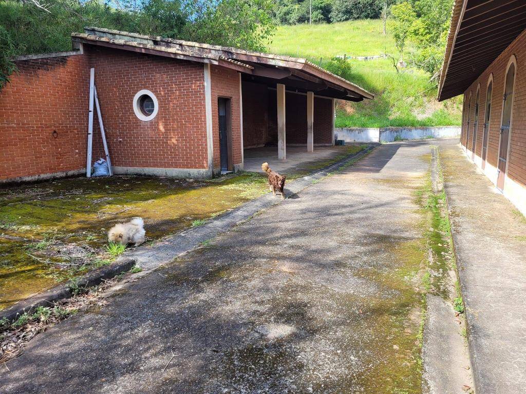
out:
<path id="1" fill-rule="evenodd" d="M 253 50 L 264 50 L 275 28 L 272 0 L 46 0 L 46 9 L 35 1 L 0 0 L 0 88 L 13 56 L 69 50 L 84 26 Z"/>

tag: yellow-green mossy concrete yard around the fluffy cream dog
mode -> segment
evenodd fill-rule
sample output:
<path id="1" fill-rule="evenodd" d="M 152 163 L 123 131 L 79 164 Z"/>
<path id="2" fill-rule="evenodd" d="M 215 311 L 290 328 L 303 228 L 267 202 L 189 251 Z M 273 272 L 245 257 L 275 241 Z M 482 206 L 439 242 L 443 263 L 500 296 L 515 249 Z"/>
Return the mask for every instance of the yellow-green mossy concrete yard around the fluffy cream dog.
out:
<path id="1" fill-rule="evenodd" d="M 241 173 L 206 181 L 116 176 L 75 178 L 0 190 L 0 309 L 107 259 L 106 232 L 133 216 L 158 239 L 267 192 L 266 178 Z M 32 248 L 43 241 L 42 247 Z M 77 244 L 85 261 L 48 253 Z"/>

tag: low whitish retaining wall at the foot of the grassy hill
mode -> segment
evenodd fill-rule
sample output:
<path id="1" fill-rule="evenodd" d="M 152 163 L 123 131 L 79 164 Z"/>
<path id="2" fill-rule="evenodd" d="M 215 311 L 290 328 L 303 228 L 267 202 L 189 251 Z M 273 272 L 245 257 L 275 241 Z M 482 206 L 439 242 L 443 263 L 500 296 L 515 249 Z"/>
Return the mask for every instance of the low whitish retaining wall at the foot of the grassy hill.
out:
<path id="1" fill-rule="evenodd" d="M 345 142 L 392 142 L 427 138 L 459 137 L 459 126 L 439 127 L 349 127 L 335 129 L 335 139 Z"/>

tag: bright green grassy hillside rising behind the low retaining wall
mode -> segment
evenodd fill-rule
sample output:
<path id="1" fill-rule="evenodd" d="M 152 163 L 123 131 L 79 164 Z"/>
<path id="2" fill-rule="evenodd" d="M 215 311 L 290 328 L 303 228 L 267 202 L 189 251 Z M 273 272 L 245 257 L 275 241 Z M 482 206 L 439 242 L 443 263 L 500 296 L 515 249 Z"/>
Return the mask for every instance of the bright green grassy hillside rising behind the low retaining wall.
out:
<path id="1" fill-rule="evenodd" d="M 389 31 L 382 34 L 381 20 L 280 26 L 268 47 L 271 52 L 306 57 L 321 66 L 324 59 L 344 54 L 396 54 Z M 390 59 L 349 62 L 352 71 L 346 78 L 376 97 L 361 103 L 341 102 L 337 127 L 460 125 L 460 100 L 438 102 L 437 89 L 424 72 L 409 68 L 397 74 Z"/>

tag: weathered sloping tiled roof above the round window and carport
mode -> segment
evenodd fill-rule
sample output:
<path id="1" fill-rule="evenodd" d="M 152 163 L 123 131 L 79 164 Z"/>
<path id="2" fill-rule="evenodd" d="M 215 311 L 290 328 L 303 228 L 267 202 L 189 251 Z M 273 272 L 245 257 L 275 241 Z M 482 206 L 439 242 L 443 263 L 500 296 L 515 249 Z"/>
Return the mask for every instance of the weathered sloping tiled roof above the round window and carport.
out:
<path id="1" fill-rule="evenodd" d="M 372 99 L 374 95 L 303 58 L 208 45 L 163 37 L 145 36 L 95 27 L 73 33 L 73 42 L 124 49 L 149 55 L 209 63 L 235 69 L 250 79 L 281 83 L 291 89 L 348 101 Z"/>

